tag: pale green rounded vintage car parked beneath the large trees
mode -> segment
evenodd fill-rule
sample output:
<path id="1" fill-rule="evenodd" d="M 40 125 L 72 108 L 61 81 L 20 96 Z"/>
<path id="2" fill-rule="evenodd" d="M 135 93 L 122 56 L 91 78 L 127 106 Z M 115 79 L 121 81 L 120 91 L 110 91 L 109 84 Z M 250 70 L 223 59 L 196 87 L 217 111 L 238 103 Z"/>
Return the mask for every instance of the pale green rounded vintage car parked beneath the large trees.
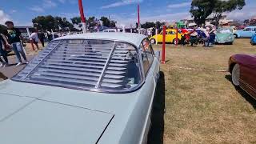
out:
<path id="1" fill-rule="evenodd" d="M 216 30 L 216 43 L 228 43 L 233 44 L 234 42 L 234 34 L 231 28 L 221 27 Z"/>

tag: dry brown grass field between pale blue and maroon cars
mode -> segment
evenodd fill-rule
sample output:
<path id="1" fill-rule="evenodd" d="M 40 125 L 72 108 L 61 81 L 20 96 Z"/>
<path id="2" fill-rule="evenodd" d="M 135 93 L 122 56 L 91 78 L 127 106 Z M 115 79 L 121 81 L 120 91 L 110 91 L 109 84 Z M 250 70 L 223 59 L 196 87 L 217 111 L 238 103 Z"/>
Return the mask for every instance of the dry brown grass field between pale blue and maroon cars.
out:
<path id="1" fill-rule="evenodd" d="M 162 45 L 154 49 L 162 50 Z M 255 50 L 249 39 L 210 50 L 167 45 L 160 79 L 160 89 L 165 90 L 164 126 L 158 124 L 160 138 L 151 138 L 150 143 L 162 143 L 162 136 L 163 143 L 256 143 L 256 101 L 236 90 L 229 73 L 218 72 L 227 70 L 230 55 L 255 54 Z"/>

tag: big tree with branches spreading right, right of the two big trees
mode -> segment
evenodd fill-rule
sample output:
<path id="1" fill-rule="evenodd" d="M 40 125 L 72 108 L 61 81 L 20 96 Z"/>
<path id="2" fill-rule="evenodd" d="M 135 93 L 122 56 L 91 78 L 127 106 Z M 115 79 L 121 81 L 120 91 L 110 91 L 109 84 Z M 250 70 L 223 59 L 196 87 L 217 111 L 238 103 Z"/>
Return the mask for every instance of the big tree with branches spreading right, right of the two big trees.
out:
<path id="1" fill-rule="evenodd" d="M 245 0 L 217 0 L 213 9 L 215 25 L 218 26 L 222 14 L 233 10 L 241 10 L 246 5 Z"/>

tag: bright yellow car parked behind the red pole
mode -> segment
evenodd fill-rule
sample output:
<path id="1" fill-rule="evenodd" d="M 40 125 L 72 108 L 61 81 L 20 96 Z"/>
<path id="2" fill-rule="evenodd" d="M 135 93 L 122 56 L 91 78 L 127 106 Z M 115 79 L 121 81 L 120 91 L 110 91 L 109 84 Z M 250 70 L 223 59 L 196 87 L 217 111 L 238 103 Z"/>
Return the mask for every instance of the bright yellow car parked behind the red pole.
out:
<path id="1" fill-rule="evenodd" d="M 182 38 L 182 34 L 178 33 L 178 41 L 176 41 L 176 30 L 175 29 L 167 29 L 166 30 L 166 42 L 170 43 L 178 43 L 180 42 Z M 158 42 L 162 42 L 162 31 L 160 34 L 154 35 L 153 37 L 150 38 L 151 43 L 155 43 L 156 40 Z"/>

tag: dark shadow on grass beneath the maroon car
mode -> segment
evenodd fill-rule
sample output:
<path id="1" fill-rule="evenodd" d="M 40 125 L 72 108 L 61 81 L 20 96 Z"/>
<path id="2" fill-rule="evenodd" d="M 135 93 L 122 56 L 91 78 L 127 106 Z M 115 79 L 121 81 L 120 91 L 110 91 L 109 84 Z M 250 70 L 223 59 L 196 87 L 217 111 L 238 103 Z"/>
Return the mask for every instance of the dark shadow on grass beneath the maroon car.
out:
<path id="1" fill-rule="evenodd" d="M 232 83 L 231 75 L 226 75 L 225 78 Z M 251 106 L 254 106 L 254 110 L 256 110 L 256 100 L 247 94 L 245 90 L 242 90 L 240 87 L 234 86 L 235 90 L 237 90 L 243 98 L 246 99 L 247 102 L 250 102 Z"/>

